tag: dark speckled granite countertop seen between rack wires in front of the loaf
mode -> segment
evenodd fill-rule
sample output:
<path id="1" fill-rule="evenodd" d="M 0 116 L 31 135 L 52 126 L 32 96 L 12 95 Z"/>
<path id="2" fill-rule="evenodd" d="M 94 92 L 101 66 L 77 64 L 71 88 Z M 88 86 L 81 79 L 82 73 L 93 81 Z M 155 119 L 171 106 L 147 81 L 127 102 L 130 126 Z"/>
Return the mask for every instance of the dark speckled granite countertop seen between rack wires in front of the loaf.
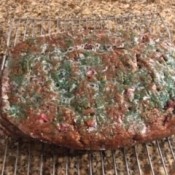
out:
<path id="1" fill-rule="evenodd" d="M 172 146 L 175 141 L 172 139 Z M 158 142 L 166 164 L 167 173 L 175 174 L 175 161 L 167 141 Z M 92 172 L 95 175 L 113 175 L 115 168 L 118 174 L 127 174 L 126 160 L 128 163 L 128 172 L 131 175 L 139 174 L 138 163 L 134 148 L 119 149 L 116 151 L 103 152 L 85 152 L 71 151 L 61 149 L 53 145 L 40 144 L 28 141 L 8 140 L 7 142 L 0 139 L 0 173 L 6 174 L 59 174 L 65 175 L 80 174 L 87 175 Z M 152 167 L 156 175 L 164 175 L 165 171 L 160 158 L 157 143 L 147 144 L 148 152 L 152 162 Z M 5 149 L 7 151 L 5 164 L 3 165 Z M 124 152 L 125 155 L 124 156 Z M 136 147 L 140 165 L 140 173 L 143 175 L 151 174 L 151 166 L 148 159 L 145 145 Z M 103 168 L 102 168 L 103 167 Z M 4 168 L 4 169 L 3 169 Z"/>

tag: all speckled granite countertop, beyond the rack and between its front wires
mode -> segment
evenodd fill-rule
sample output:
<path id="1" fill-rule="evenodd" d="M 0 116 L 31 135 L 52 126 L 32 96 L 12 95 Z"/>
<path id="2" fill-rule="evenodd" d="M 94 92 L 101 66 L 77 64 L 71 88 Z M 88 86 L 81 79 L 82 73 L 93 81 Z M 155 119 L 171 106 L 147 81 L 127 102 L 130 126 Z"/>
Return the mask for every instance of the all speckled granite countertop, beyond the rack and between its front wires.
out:
<path id="1" fill-rule="evenodd" d="M 169 0 L 155 0 L 154 3 L 146 0 L 72 0 L 69 2 L 62 0 L 2 0 L 0 2 L 1 57 L 4 53 L 7 37 L 7 19 L 10 17 L 71 18 L 75 16 L 91 17 L 94 14 L 98 16 L 117 15 L 126 11 L 132 11 L 137 14 L 141 11 L 156 11 L 167 17 L 168 24 L 172 26 L 172 34 L 174 36 L 173 26 L 175 20 L 173 17 L 175 13 L 173 3 L 173 1 Z M 157 144 L 160 145 L 160 149 L 158 149 Z M 130 174 L 137 175 L 139 174 L 139 166 L 140 173 L 149 175 L 152 171 L 149 158 L 151 159 L 154 173 L 156 175 L 164 175 L 166 173 L 160 150 L 167 172 L 170 175 L 175 174 L 175 157 L 173 157 L 175 152 L 172 154 L 172 151 L 175 151 L 175 139 L 173 138 L 170 138 L 169 142 L 166 140 L 148 143 L 147 147 L 138 145 L 135 147 L 136 152 L 134 147 L 132 147 L 125 150 L 91 153 L 70 151 L 53 145 L 40 144 L 33 141 L 17 141 L 15 139 L 8 139 L 7 145 L 7 140 L 4 139 L 4 136 L 1 136 L 0 148 L 0 173 L 3 172 L 2 174 L 4 175 L 113 175 L 116 174 L 115 169 L 119 175 L 127 174 L 127 170 Z M 150 157 L 148 157 L 148 154 Z M 136 155 L 139 161 L 137 161 Z"/>

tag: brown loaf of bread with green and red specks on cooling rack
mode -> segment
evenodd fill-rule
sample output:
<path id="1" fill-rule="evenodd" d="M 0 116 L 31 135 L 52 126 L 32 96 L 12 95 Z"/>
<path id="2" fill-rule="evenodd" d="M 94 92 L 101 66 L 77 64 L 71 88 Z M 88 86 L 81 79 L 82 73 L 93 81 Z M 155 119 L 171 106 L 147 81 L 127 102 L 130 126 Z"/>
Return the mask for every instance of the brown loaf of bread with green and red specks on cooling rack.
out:
<path id="1" fill-rule="evenodd" d="M 115 149 L 175 133 L 174 85 L 175 47 L 148 33 L 29 38 L 7 60 L 1 120 L 59 146 Z"/>

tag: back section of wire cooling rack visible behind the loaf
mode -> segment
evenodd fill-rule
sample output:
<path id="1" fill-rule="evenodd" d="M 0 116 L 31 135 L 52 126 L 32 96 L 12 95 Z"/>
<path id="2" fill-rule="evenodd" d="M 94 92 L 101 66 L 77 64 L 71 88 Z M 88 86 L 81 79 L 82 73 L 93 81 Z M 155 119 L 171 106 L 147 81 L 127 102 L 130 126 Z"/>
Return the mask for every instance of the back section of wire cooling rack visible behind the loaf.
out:
<path id="1" fill-rule="evenodd" d="M 129 31 L 137 33 L 152 33 L 159 35 L 159 38 L 167 38 L 171 41 L 171 32 L 165 20 L 159 14 L 143 14 L 136 16 L 127 14 L 120 17 L 107 16 L 103 18 L 86 19 L 13 19 L 9 20 L 9 32 L 7 33 L 7 49 L 1 65 L 3 70 L 8 48 L 15 46 L 17 42 L 23 41 L 28 37 L 56 35 L 63 31 L 83 32 L 84 30 L 96 32 L 98 30 Z M 12 39 L 13 38 L 13 39 Z"/>

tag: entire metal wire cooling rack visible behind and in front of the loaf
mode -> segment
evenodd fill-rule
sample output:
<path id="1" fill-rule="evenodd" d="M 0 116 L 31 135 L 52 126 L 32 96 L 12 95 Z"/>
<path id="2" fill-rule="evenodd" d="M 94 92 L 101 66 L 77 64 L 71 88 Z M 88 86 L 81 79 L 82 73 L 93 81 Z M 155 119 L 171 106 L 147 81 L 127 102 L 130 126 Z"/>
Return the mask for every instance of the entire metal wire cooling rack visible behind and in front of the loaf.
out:
<path id="1" fill-rule="evenodd" d="M 98 23 L 97 23 L 98 21 Z M 132 24 L 126 25 L 126 24 Z M 125 15 L 103 19 L 40 20 L 14 19 L 9 22 L 7 50 L 1 71 L 11 46 L 28 37 L 54 35 L 60 31 L 84 29 L 118 31 L 123 26 L 137 32 L 151 32 L 171 40 L 170 31 L 158 14 L 142 17 Z M 127 27 L 126 27 L 127 26 Z M 158 29 L 157 29 L 157 26 Z M 44 143 L 0 139 L 0 173 L 5 174 L 173 174 L 175 172 L 175 140 L 165 138 L 132 148 L 115 151 L 71 151 Z"/>

